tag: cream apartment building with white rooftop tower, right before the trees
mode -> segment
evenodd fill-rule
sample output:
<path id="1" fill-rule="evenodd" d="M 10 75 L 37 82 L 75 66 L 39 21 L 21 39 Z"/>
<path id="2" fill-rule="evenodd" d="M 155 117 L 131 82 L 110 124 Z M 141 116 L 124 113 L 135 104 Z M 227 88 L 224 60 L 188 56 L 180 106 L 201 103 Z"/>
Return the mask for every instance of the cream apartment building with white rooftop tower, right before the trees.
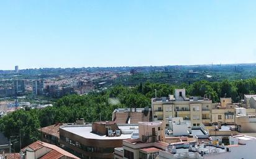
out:
<path id="1" fill-rule="evenodd" d="M 211 106 L 208 98 L 187 98 L 185 89 L 176 89 L 175 95 L 152 98 L 153 121 L 163 121 L 168 127 L 170 118 L 183 117 L 191 121 L 191 126 L 200 126 L 211 122 Z"/>

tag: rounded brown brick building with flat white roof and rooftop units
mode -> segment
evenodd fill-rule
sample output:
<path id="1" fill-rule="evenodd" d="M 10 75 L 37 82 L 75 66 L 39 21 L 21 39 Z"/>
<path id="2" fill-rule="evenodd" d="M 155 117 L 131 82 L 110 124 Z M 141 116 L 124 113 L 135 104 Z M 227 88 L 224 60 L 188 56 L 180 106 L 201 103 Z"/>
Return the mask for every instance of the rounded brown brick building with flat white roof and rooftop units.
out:
<path id="1" fill-rule="evenodd" d="M 81 158 L 114 158 L 114 148 L 121 147 L 122 140 L 138 137 L 137 124 L 101 121 L 60 126 L 60 144 Z"/>

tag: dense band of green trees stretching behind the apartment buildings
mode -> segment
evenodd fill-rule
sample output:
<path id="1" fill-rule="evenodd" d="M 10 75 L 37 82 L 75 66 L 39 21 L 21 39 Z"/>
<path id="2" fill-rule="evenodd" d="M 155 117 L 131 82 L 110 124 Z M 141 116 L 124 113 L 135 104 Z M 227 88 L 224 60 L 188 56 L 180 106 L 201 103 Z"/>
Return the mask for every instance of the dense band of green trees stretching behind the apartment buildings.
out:
<path id="1" fill-rule="evenodd" d="M 39 139 L 40 127 L 55 124 L 55 122 L 75 122 L 84 118 L 86 122 L 111 120 L 112 111 L 116 108 L 142 108 L 149 106 L 150 99 L 167 97 L 173 94 L 175 88 L 186 88 L 189 96 L 207 95 L 213 102 L 219 102 L 221 97 L 231 97 L 232 101 L 240 102 L 244 94 L 256 93 L 256 79 L 222 80 L 209 82 L 200 80 L 193 84 L 160 84 L 145 82 L 127 87 L 115 85 L 103 92 L 91 92 L 88 95 L 68 95 L 60 98 L 50 107 L 43 109 L 17 110 L 0 119 L 0 131 L 10 138 L 21 135 L 22 147 Z"/>

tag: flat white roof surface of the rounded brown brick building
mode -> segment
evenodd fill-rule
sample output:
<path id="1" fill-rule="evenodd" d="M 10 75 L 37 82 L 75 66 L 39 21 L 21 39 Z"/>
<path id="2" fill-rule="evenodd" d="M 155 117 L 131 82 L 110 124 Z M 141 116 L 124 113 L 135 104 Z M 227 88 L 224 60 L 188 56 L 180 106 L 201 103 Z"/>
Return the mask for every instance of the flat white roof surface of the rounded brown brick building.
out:
<path id="1" fill-rule="evenodd" d="M 120 136 L 108 137 L 106 135 L 99 135 L 92 132 L 92 127 L 87 125 L 65 125 L 61 126 L 60 129 L 63 129 L 67 132 L 70 132 L 75 135 L 84 137 L 85 139 L 97 139 L 97 140 L 124 140 L 131 139 L 132 132 L 138 132 L 139 126 L 129 125 L 129 126 L 118 126 L 121 131 L 126 132 Z M 129 132 L 129 133 L 127 133 Z"/>

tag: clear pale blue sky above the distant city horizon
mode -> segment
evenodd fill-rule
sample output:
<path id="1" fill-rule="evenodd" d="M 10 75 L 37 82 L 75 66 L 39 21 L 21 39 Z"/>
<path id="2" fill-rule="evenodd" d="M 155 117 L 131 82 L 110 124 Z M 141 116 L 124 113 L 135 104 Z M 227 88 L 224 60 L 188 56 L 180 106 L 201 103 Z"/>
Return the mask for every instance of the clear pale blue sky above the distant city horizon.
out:
<path id="1" fill-rule="evenodd" d="M 0 1 L 0 69 L 256 62 L 256 1 Z"/>

